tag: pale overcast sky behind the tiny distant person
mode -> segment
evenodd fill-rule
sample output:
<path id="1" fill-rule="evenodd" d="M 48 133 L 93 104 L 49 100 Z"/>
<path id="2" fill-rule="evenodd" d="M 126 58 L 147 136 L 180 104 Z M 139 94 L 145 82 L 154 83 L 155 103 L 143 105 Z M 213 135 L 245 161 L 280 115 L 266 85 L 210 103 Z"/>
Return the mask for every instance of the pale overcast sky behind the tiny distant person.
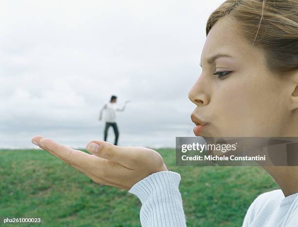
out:
<path id="1" fill-rule="evenodd" d="M 175 147 L 194 136 L 187 94 L 209 14 L 223 0 L 3 0 L 0 148 L 41 134 L 75 148 L 102 140 L 112 94 L 119 145 Z M 113 142 L 112 128 L 109 142 Z"/>

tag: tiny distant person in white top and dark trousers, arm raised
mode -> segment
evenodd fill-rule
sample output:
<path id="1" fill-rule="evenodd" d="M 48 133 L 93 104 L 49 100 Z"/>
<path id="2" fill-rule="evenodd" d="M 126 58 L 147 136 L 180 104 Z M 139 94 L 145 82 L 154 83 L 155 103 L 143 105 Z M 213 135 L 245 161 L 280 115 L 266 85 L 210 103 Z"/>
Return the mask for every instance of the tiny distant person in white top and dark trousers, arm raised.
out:
<path id="1" fill-rule="evenodd" d="M 104 141 L 107 141 L 108 130 L 110 126 L 112 126 L 115 133 L 114 145 L 117 145 L 118 138 L 119 138 L 119 131 L 116 123 L 116 111 L 124 111 L 126 104 L 129 102 L 129 101 L 125 101 L 124 106 L 122 108 L 118 108 L 118 106 L 116 105 L 116 101 L 117 101 L 117 96 L 112 95 L 110 102 L 105 103 L 105 105 L 101 108 L 99 113 L 99 119 L 98 119 L 98 120 L 102 119 L 102 113 L 105 110 L 104 116 L 105 116 L 106 127 L 104 131 Z"/>

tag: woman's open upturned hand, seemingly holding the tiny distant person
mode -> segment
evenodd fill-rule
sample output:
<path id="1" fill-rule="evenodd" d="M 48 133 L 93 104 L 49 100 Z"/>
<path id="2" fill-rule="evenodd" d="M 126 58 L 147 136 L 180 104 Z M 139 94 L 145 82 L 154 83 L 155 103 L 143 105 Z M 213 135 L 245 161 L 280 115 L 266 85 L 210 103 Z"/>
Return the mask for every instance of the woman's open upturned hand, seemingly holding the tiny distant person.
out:
<path id="1" fill-rule="evenodd" d="M 40 135 L 34 136 L 32 143 L 85 173 L 94 182 L 120 189 L 129 190 L 154 172 L 168 171 L 162 156 L 148 148 L 119 147 L 93 140 L 86 146 L 91 153 L 87 154 Z"/>

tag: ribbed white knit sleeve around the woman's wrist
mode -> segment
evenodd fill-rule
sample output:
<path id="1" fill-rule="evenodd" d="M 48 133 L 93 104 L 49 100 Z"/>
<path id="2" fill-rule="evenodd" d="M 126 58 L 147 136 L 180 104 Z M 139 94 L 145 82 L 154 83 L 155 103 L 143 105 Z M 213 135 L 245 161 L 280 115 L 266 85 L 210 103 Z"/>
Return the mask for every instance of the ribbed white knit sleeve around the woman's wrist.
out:
<path id="1" fill-rule="evenodd" d="M 129 190 L 141 203 L 142 227 L 186 227 L 179 191 L 180 174 L 156 172 L 137 182 Z"/>

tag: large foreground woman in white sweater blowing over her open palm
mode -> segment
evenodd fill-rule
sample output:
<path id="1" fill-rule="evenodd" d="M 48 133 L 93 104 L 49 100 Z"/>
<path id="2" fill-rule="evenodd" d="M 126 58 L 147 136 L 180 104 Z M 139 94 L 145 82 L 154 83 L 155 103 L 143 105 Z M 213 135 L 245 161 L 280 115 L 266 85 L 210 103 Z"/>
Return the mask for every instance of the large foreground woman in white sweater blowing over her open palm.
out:
<path id="1" fill-rule="evenodd" d="M 207 20 L 201 67 L 188 95 L 196 136 L 298 137 L 298 0 L 224 1 Z M 90 141 L 90 155 L 43 136 L 32 142 L 135 194 L 143 227 L 186 226 L 180 175 L 156 151 Z M 280 189 L 259 195 L 242 226 L 297 227 L 298 166 L 263 168 Z"/>

